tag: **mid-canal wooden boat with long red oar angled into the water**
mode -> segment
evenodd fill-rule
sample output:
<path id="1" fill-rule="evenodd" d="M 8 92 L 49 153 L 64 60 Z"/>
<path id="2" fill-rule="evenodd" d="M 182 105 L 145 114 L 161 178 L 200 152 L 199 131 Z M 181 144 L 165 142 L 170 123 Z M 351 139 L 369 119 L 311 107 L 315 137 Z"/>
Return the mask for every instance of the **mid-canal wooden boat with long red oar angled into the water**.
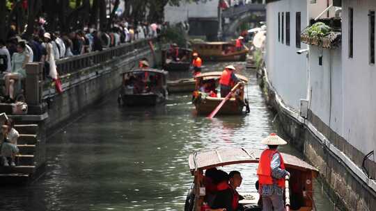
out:
<path id="1" fill-rule="evenodd" d="M 215 81 L 215 84 L 212 87 L 215 89 L 219 85 L 219 78 L 221 77 L 221 71 L 212 71 L 204 74 L 199 74 L 195 76 L 198 86 L 205 84 L 205 81 L 210 79 Z M 248 78 L 240 74 L 235 74 L 237 78 L 240 79 L 243 83 L 248 83 Z M 214 90 L 213 90 L 214 91 Z M 218 97 L 219 96 L 219 97 Z M 193 103 L 196 107 L 198 115 L 209 115 L 221 101 L 226 96 L 220 96 L 220 94 L 215 96 L 210 96 L 209 93 L 200 92 L 195 90 L 193 93 Z M 243 113 L 243 108 L 246 108 L 246 111 L 249 112 L 248 100 L 244 98 L 244 85 L 241 85 L 238 90 L 233 94 L 233 96 L 226 101 L 219 110 L 218 115 L 241 115 Z"/>

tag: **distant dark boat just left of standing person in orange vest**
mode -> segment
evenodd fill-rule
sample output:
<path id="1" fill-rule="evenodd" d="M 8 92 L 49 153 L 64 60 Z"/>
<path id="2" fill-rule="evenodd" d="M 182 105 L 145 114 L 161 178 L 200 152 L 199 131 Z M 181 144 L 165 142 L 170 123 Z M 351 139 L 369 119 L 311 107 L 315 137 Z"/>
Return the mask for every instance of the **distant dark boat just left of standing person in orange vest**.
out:
<path id="1" fill-rule="evenodd" d="M 191 67 L 191 49 L 178 48 L 178 58 L 171 56 L 170 49 L 162 51 L 162 67 L 166 71 L 189 71 Z"/>

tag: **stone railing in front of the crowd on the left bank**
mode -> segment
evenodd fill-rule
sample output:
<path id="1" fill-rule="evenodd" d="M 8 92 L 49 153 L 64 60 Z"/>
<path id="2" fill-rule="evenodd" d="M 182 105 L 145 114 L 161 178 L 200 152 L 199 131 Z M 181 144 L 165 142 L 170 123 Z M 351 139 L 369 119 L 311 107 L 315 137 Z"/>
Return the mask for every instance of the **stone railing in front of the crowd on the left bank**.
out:
<path id="1" fill-rule="evenodd" d="M 155 44 L 157 38 L 138 40 L 136 42 L 120 44 L 117 47 L 104 49 L 103 51 L 95 51 L 56 60 L 56 67 L 63 85 L 63 90 L 75 83 L 80 83 L 79 81 L 81 80 L 79 79 L 81 78 L 91 78 L 93 75 L 98 74 L 100 65 L 106 62 L 111 62 L 111 60 L 129 53 L 136 53 L 138 50 L 150 48 L 150 42 Z M 42 72 L 43 68 L 40 62 L 32 62 L 26 65 L 25 95 L 26 102 L 29 105 L 40 105 L 43 99 L 57 94 L 55 92 L 54 82 L 50 79 L 45 79 Z"/>

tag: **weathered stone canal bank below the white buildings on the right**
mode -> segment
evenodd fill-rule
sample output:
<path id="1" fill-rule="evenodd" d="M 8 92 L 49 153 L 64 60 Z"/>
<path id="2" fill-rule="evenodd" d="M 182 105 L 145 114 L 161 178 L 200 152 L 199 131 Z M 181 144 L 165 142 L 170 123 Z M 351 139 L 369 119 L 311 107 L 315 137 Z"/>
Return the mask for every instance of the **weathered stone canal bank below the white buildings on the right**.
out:
<path id="1" fill-rule="evenodd" d="M 338 150 L 340 137 L 310 110 L 308 117 L 303 118 L 285 105 L 269 82 L 266 69 L 259 69 L 257 75 L 267 105 L 276 112 L 279 128 L 289 137 L 289 144 L 319 169 L 322 187 L 329 194 L 335 210 L 375 208 L 374 180 L 363 176 L 363 171 Z"/>

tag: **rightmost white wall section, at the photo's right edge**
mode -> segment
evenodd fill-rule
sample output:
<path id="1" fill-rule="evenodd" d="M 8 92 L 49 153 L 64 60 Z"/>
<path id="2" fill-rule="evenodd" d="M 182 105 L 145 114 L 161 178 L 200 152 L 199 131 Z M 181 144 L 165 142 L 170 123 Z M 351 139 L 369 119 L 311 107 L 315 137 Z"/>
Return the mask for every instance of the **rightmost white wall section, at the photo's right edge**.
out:
<path id="1" fill-rule="evenodd" d="M 374 0 L 343 0 L 343 137 L 363 153 L 376 151 L 376 67 L 369 64 L 368 11 Z M 354 56 L 348 57 L 348 8 L 354 8 Z M 375 160 L 376 161 L 376 160 Z"/>

